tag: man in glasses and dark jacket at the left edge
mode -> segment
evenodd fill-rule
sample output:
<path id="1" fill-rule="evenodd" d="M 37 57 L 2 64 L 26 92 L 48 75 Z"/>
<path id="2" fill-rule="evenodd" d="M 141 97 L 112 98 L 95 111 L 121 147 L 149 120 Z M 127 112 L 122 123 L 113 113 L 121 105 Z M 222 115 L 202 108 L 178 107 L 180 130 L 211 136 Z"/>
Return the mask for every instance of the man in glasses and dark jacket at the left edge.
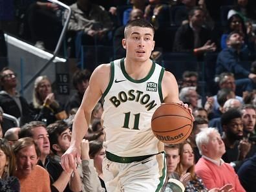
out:
<path id="1" fill-rule="evenodd" d="M 17 78 L 16 73 L 5 67 L 0 72 L 0 106 L 6 114 L 15 116 L 20 120 L 21 124 L 27 123 L 32 120 L 31 111 L 25 98 L 19 95 L 16 91 Z M 8 125 L 3 127 L 5 132 Z"/>

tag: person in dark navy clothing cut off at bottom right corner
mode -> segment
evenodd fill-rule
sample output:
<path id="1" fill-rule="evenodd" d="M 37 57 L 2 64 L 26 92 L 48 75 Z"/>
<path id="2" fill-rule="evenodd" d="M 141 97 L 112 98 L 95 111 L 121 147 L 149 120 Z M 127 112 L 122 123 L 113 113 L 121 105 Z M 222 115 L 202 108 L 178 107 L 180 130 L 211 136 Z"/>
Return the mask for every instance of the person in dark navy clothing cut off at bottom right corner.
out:
<path id="1" fill-rule="evenodd" d="M 246 160 L 237 173 L 239 180 L 247 192 L 254 192 L 256 189 L 256 153 Z"/>

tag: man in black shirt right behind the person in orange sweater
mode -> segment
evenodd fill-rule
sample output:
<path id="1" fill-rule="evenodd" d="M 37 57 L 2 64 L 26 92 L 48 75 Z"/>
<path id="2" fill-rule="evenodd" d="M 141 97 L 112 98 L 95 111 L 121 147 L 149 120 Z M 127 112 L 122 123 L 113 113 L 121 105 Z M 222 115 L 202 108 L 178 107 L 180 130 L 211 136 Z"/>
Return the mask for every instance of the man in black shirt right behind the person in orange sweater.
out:
<path id="1" fill-rule="evenodd" d="M 30 122 L 23 127 L 19 132 L 19 138 L 30 137 L 34 140 L 39 148 L 40 154 L 37 155 L 37 164 L 47 169 L 50 175 L 50 188 L 52 191 L 64 191 L 69 184 L 71 173 L 63 171 L 61 165 L 56 160 L 53 160 L 50 155 L 50 141 L 48 138 L 47 129 L 43 122 Z M 59 176 L 56 176 L 60 173 Z"/>

